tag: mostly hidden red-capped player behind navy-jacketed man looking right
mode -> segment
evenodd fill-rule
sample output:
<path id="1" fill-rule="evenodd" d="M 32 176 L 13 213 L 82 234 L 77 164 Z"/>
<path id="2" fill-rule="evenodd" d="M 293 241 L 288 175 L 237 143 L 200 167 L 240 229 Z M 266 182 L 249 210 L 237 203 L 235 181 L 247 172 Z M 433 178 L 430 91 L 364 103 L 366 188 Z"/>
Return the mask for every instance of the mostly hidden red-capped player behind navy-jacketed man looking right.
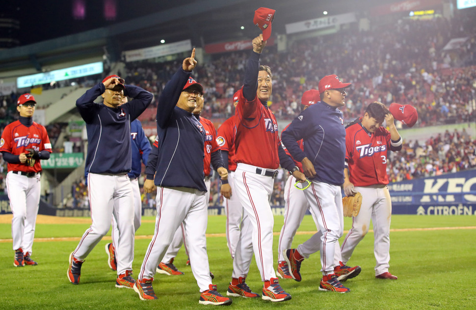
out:
<path id="1" fill-rule="evenodd" d="M 318 102 L 319 99 L 319 91 L 317 89 L 310 89 L 305 91 L 301 97 L 301 111 L 306 110 L 311 105 Z M 289 126 L 289 125 L 288 125 Z M 288 128 L 283 130 L 283 132 Z M 302 139 L 298 141 L 299 147 L 301 150 L 304 150 Z M 285 151 L 286 154 L 282 154 Z M 282 279 L 292 279 L 289 273 L 288 263 L 284 259 L 283 251 L 287 249 L 291 249 L 292 239 L 296 234 L 297 228 L 301 225 L 302 219 L 306 214 L 307 210 L 310 210 L 311 216 L 313 217 L 314 222 L 317 224 L 317 218 L 314 214 L 314 211 L 310 208 L 309 202 L 304 195 L 302 190 L 297 189 L 294 186 L 296 182 L 296 178 L 292 176 L 292 173 L 296 170 L 302 172 L 302 164 L 298 161 L 292 159 L 289 165 L 285 164 L 285 161 L 282 160 L 283 156 L 291 156 L 288 150 L 285 148 L 279 148 L 279 160 L 281 163 L 281 167 L 284 169 L 288 169 L 290 172 L 290 176 L 286 181 L 286 185 L 284 187 L 284 224 L 281 228 L 281 233 L 279 234 L 279 243 L 278 243 L 278 270 L 277 274 Z M 291 156 L 292 158 L 292 156 Z"/>

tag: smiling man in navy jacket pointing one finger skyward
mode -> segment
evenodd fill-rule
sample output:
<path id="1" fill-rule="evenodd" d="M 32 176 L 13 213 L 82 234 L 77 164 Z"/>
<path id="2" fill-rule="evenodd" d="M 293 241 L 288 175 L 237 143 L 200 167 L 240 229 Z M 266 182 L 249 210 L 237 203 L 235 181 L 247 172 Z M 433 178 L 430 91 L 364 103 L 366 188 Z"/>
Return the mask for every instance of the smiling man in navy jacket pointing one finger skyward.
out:
<path id="1" fill-rule="evenodd" d="M 203 87 L 191 78 L 197 65 L 195 49 L 165 85 L 157 107 L 158 159 L 155 176 L 147 171 L 144 189 L 157 186 L 154 236 L 140 267 L 134 290 L 142 300 L 158 299 L 152 287 L 157 266 L 184 223 L 193 276 L 200 289 L 199 303 L 229 305 L 232 300 L 212 284 L 207 255 L 207 202 L 203 169 L 206 130 L 192 114 L 203 96 Z M 225 169 L 223 169 L 225 170 Z M 224 171 L 226 173 L 226 170 Z M 226 175 L 222 175 L 223 178 Z"/>

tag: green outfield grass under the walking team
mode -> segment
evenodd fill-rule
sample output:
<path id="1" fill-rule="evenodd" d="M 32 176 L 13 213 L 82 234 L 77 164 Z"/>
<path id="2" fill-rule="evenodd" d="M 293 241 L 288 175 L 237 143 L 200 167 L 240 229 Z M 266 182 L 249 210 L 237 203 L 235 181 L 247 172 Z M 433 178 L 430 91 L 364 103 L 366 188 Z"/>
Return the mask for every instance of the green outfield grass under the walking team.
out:
<path id="1" fill-rule="evenodd" d="M 152 235 L 154 218 L 144 217 L 137 235 Z M 283 217 L 275 217 L 274 231 L 281 229 Z M 36 238 L 79 238 L 88 224 L 38 224 Z M 474 216 L 405 216 L 392 217 L 390 271 L 397 281 L 374 278 L 373 233 L 356 248 L 349 265 L 360 265 L 361 274 L 345 282 L 350 293 L 337 294 L 318 290 L 320 262 L 318 253 L 304 260 L 302 282 L 280 280 L 281 286 L 292 295 L 291 301 L 265 302 L 261 299 L 233 298 L 231 308 L 239 309 L 476 309 L 476 230 L 412 229 L 432 227 L 476 226 Z M 223 233 L 225 218 L 209 217 L 208 233 Z M 350 219 L 345 219 L 345 228 Z M 306 216 L 299 231 L 314 231 L 315 225 Z M 311 235 L 297 234 L 293 246 Z M 0 224 L 0 239 L 11 238 L 10 225 Z M 342 239 L 341 239 L 342 240 Z M 185 272 L 183 276 L 168 277 L 157 274 L 155 301 L 141 301 L 131 289 L 114 287 L 115 272 L 106 263 L 102 240 L 89 254 L 82 266 L 79 285 L 66 278 L 68 255 L 78 241 L 35 242 L 32 257 L 38 266 L 13 267 L 11 242 L 0 243 L 0 309 L 205 309 L 213 306 L 198 304 L 198 286 L 189 266 L 185 266 L 184 250 L 179 252 L 175 265 Z M 149 244 L 149 239 L 135 242 L 134 277 Z M 274 238 L 277 249 L 278 235 Z M 232 260 L 226 247 L 226 238 L 207 239 L 213 283 L 225 295 L 231 280 Z M 275 250 L 274 257 L 277 257 Z M 276 267 L 276 265 L 275 265 Z M 253 260 L 246 281 L 253 291 L 260 293 L 262 282 Z"/>

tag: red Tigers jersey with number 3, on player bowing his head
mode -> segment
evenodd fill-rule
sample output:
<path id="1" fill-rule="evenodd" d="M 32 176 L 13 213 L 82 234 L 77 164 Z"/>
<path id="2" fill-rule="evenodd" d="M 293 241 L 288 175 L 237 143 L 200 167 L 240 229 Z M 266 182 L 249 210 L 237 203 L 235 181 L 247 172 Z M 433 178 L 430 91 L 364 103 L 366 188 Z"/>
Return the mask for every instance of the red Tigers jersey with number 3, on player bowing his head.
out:
<path id="1" fill-rule="evenodd" d="M 345 161 L 349 180 L 354 186 L 388 184 L 387 152 L 391 148 L 390 132 L 379 127 L 370 137 L 360 122 L 345 129 Z"/>

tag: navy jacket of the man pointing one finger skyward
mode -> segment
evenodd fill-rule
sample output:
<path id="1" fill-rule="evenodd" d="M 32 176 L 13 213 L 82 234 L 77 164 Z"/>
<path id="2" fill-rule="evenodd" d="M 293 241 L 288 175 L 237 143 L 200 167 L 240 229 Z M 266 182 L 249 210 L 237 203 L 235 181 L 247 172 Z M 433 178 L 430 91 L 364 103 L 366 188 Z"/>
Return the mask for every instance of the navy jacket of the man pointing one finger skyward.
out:
<path id="1" fill-rule="evenodd" d="M 154 184 L 206 192 L 203 173 L 205 130 L 192 113 L 175 106 L 190 74 L 180 68 L 167 82 L 159 97 L 159 153 Z"/>

